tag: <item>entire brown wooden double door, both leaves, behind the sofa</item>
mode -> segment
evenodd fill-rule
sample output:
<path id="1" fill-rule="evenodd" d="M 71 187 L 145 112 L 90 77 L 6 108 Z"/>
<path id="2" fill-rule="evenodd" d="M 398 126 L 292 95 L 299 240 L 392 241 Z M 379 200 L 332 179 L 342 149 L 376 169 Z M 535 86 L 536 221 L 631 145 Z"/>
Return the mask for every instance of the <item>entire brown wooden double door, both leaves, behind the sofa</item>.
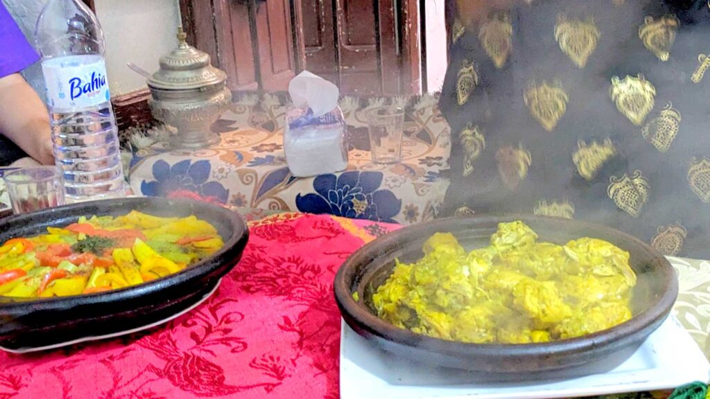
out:
<path id="1" fill-rule="evenodd" d="M 421 91 L 417 0 L 180 0 L 188 40 L 231 89 L 288 89 L 301 70 L 353 94 Z"/>

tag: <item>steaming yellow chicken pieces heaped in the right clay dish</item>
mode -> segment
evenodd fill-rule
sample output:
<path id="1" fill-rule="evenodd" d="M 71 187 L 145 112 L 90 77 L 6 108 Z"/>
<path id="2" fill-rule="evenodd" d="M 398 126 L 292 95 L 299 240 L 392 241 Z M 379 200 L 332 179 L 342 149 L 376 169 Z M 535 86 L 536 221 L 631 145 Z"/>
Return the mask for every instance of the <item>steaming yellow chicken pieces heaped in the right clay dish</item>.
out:
<path id="1" fill-rule="evenodd" d="M 452 234 L 437 233 L 420 261 L 396 261 L 373 305 L 400 328 L 476 344 L 580 337 L 631 318 L 628 252 L 587 237 L 564 246 L 536 240 L 523 222 L 501 223 L 490 246 L 466 253 Z"/>

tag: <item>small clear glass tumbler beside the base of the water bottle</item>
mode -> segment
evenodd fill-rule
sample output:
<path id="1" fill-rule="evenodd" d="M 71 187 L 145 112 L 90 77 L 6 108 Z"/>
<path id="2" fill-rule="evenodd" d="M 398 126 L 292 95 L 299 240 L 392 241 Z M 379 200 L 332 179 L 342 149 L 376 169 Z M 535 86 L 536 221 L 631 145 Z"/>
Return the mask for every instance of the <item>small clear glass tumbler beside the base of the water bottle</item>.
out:
<path id="1" fill-rule="evenodd" d="M 65 204 L 64 178 L 55 166 L 21 168 L 3 177 L 15 214 Z"/>

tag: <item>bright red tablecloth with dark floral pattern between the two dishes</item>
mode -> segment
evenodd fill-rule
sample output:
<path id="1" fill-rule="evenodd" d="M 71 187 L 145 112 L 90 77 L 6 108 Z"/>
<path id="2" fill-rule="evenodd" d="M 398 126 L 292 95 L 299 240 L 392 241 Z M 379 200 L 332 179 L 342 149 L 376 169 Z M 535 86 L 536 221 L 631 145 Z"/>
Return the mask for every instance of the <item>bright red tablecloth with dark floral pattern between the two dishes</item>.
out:
<path id="1" fill-rule="evenodd" d="M 119 339 L 0 353 L 0 399 L 338 398 L 334 274 L 395 228 L 302 214 L 255 222 L 241 263 L 200 307 Z"/>

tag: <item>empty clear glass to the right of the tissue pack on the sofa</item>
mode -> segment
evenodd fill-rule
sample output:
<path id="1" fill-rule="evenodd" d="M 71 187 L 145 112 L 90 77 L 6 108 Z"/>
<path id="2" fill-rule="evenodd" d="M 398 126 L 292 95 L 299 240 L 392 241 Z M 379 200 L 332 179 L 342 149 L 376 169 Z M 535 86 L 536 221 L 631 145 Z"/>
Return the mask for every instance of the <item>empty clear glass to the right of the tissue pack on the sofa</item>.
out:
<path id="1" fill-rule="evenodd" d="M 398 163 L 402 160 L 404 109 L 380 106 L 366 113 L 370 149 L 374 163 Z"/>

